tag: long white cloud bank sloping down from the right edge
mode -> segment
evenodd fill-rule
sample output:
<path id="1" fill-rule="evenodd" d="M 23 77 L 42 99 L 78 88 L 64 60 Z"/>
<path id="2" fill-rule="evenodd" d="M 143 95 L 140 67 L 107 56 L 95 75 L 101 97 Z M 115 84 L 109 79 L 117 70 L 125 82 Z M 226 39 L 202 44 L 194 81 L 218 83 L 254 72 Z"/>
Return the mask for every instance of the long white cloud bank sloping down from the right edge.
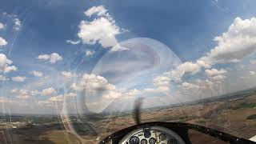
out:
<path id="1" fill-rule="evenodd" d="M 182 78 L 184 74 L 196 74 L 202 68 L 209 69 L 215 64 L 240 62 L 256 53 L 256 18 L 242 20 L 235 18 L 228 30 L 215 37 L 217 46 L 196 62 L 184 62 L 170 72 L 172 77 Z M 223 76 L 215 77 L 221 79 Z"/>

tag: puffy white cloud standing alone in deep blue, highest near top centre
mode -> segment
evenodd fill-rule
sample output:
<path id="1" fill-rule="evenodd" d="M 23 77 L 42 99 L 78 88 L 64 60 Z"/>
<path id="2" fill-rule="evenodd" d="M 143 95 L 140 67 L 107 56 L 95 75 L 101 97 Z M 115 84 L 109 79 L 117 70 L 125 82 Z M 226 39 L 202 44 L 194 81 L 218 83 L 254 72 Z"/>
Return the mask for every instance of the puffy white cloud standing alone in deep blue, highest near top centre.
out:
<path id="1" fill-rule="evenodd" d="M 127 50 L 119 46 L 116 35 L 121 34 L 121 30 L 116 26 L 114 18 L 107 13 L 104 6 L 94 6 L 85 12 L 86 16 L 96 14 L 98 18 L 93 21 L 81 21 L 79 25 L 78 37 L 83 43 L 94 45 L 100 43 L 102 47 L 113 47 L 113 51 Z"/>

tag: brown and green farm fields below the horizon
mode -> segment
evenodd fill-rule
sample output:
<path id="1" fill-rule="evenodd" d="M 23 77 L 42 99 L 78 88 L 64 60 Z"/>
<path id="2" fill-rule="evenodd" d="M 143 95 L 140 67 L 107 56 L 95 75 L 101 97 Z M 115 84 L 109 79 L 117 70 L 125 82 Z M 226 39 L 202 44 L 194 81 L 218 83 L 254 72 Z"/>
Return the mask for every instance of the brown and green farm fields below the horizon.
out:
<path id="1" fill-rule="evenodd" d="M 189 122 L 250 138 L 256 134 L 256 94 L 200 102 L 183 106 L 168 106 L 142 110 L 142 122 Z M 22 116 L 12 122 L 1 121 L 1 143 L 97 143 L 107 135 L 133 126 L 132 112 L 70 117 L 76 134 L 66 131 L 58 116 Z M 86 123 L 95 127 L 98 139 Z M 79 136 L 79 137 L 78 137 Z M 194 143 L 221 143 L 217 139 L 190 131 Z"/>

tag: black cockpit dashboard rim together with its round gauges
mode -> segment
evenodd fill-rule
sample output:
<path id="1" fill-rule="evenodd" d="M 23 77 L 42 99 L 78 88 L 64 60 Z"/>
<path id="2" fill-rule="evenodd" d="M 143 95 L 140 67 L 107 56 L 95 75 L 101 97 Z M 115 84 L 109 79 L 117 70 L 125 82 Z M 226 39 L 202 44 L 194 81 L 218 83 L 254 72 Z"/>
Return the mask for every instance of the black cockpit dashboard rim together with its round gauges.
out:
<path id="1" fill-rule="evenodd" d="M 237 138 L 205 126 L 181 122 L 146 122 L 130 126 L 104 138 L 100 144 L 191 144 L 188 130 L 196 130 L 224 142 L 255 144 L 250 140 Z"/>

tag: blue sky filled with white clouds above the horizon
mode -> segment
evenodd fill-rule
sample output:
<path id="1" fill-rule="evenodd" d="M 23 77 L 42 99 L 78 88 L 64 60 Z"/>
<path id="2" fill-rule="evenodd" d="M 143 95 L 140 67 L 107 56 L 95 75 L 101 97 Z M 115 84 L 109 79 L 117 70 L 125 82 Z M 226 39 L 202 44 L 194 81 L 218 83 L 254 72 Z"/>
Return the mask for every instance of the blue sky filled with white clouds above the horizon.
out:
<path id="1" fill-rule="evenodd" d="M 102 113 L 256 86 L 253 0 L 3 0 L 1 112 Z"/>

